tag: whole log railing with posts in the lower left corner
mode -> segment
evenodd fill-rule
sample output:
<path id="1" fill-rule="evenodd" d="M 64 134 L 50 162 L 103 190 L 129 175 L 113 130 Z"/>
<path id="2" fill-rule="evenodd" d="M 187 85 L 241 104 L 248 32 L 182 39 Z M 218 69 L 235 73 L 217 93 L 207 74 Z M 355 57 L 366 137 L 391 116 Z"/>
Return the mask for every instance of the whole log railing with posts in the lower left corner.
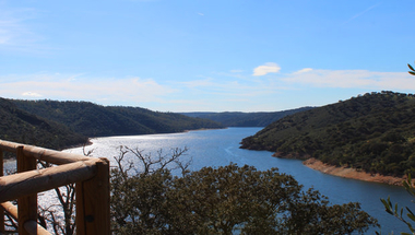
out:
<path id="1" fill-rule="evenodd" d="M 16 155 L 17 173 L 3 176 L 5 152 Z M 37 161 L 57 166 L 37 168 Z M 4 212 L 17 221 L 19 234 L 49 234 L 37 223 L 37 192 L 75 183 L 76 234 L 110 234 L 109 162 L 0 140 L 0 234 Z M 17 207 L 11 200 L 17 199 Z"/>

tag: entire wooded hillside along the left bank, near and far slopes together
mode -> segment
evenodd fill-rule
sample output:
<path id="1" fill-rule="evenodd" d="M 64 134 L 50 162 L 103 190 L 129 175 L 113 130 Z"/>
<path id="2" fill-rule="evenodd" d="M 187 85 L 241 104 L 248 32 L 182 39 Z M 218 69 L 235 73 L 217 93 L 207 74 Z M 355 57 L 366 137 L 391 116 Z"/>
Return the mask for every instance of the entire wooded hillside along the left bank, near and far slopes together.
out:
<path id="1" fill-rule="evenodd" d="M 171 133 L 223 128 L 218 122 L 139 107 L 104 107 L 88 102 L 0 98 L 0 139 L 62 150 L 88 137 Z"/>

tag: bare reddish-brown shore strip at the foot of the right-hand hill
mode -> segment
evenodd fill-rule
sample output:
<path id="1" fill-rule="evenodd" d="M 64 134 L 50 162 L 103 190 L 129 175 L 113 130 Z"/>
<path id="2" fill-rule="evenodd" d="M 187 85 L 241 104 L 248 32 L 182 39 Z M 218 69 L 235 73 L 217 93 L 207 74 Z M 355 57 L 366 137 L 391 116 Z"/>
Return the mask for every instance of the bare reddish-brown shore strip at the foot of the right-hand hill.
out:
<path id="1" fill-rule="evenodd" d="M 325 164 L 316 158 L 308 158 L 303 162 L 304 165 L 322 172 L 324 174 L 340 176 L 344 178 L 358 179 L 364 181 L 372 181 L 372 183 L 382 183 L 388 185 L 396 185 L 402 186 L 402 181 L 405 180 L 406 177 L 393 177 L 393 176 L 383 176 L 380 174 L 370 174 L 361 171 L 357 171 L 351 167 L 336 167 L 333 165 Z"/>

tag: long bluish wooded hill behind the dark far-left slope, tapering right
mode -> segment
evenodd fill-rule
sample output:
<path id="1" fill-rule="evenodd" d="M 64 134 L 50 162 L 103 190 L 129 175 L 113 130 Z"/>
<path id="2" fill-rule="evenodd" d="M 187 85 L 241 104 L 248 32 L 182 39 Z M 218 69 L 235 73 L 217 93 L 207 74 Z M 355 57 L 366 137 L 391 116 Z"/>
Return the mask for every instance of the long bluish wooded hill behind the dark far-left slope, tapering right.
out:
<path id="1" fill-rule="evenodd" d="M 66 125 L 86 137 L 171 133 L 223 128 L 218 122 L 139 107 L 102 106 L 90 102 L 11 99 L 19 108 Z"/>

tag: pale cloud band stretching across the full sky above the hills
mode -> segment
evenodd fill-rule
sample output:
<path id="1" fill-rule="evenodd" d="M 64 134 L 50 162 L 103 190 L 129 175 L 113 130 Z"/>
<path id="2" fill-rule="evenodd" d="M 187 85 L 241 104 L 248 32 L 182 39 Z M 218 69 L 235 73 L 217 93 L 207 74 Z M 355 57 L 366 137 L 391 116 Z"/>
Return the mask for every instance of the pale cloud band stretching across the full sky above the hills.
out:
<path id="1" fill-rule="evenodd" d="M 415 79 L 406 72 L 312 68 L 280 73 L 269 79 L 244 80 L 232 73 L 215 73 L 192 81 L 171 80 L 164 84 L 155 79 L 139 77 L 91 78 L 87 74 L 59 73 L 0 77 L 2 97 L 90 101 L 103 105 L 131 105 L 157 110 L 223 110 L 228 109 L 226 107 L 235 107 L 236 110 L 258 109 L 266 101 L 281 98 L 282 94 L 286 96 L 293 91 L 316 87 L 327 91 L 364 89 L 410 92 L 415 90 Z"/>

